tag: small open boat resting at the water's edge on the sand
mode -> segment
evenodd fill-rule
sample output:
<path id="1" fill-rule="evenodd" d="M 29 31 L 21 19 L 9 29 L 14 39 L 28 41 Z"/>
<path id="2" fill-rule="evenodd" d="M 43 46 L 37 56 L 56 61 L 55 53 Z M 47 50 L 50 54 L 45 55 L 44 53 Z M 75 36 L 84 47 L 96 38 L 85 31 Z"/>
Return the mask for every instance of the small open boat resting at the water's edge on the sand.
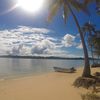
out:
<path id="1" fill-rule="evenodd" d="M 53 67 L 55 72 L 63 72 L 63 73 L 74 73 L 76 69 L 72 68 L 60 68 L 60 67 Z"/>

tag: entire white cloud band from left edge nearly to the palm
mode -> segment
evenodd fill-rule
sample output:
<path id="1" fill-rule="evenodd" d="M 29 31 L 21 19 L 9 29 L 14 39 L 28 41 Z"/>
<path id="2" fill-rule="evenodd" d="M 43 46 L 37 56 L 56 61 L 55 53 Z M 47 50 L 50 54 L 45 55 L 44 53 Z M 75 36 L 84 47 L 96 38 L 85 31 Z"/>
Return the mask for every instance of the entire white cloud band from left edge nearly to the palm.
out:
<path id="1" fill-rule="evenodd" d="M 74 35 L 51 36 L 52 30 L 18 26 L 0 30 L 0 55 L 72 56 L 66 47 L 81 48 Z"/>

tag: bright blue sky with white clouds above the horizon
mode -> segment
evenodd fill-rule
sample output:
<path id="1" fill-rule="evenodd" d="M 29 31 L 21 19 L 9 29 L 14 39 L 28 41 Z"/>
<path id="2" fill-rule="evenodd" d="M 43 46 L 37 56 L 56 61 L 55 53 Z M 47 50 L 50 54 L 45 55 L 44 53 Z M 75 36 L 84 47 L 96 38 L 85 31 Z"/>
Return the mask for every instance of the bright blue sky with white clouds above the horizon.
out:
<path id="1" fill-rule="evenodd" d="M 0 0 L 0 55 L 83 57 L 80 36 L 71 15 L 65 24 L 60 10 L 48 23 L 49 2 L 36 12 L 28 12 L 17 4 L 18 0 Z M 88 8 L 91 16 L 75 11 L 80 25 L 90 21 L 100 29 L 95 4 Z"/>

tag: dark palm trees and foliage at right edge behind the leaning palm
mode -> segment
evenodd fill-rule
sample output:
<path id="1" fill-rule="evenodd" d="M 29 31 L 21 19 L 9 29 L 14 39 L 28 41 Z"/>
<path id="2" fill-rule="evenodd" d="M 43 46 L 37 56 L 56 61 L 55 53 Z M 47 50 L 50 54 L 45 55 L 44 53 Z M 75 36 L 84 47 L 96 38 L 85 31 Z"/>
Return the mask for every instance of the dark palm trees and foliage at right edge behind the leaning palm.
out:
<path id="1" fill-rule="evenodd" d="M 90 22 L 84 24 L 82 31 L 84 37 L 87 36 L 88 49 L 91 51 L 93 65 L 95 65 L 94 56 L 95 58 L 100 56 L 100 31 L 97 31 L 95 25 Z"/>

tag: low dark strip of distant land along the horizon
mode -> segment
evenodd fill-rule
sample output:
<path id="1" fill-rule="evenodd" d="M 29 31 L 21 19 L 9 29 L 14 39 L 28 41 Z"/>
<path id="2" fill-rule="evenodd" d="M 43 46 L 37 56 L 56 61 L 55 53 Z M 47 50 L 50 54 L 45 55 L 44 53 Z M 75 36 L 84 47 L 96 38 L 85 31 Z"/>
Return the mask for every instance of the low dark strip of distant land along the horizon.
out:
<path id="1" fill-rule="evenodd" d="M 84 60 L 84 58 L 82 57 L 69 58 L 69 57 L 56 57 L 56 56 L 19 56 L 19 55 L 1 55 L 0 58 Z"/>

